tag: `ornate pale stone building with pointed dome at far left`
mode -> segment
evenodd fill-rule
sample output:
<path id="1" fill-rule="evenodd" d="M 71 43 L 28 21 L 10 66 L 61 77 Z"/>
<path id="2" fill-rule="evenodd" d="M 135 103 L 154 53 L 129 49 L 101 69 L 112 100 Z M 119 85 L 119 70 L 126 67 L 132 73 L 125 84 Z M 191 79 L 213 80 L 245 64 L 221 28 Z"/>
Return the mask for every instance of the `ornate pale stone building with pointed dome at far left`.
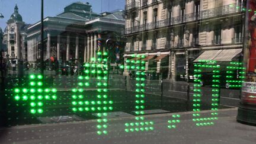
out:
<path id="1" fill-rule="evenodd" d="M 3 44 L 7 47 L 4 57 L 10 59 L 23 59 L 27 57 L 27 33 L 29 27 L 25 24 L 23 18 L 18 12 L 18 6 L 15 5 L 14 13 L 7 21 L 7 27 L 4 30 Z"/>

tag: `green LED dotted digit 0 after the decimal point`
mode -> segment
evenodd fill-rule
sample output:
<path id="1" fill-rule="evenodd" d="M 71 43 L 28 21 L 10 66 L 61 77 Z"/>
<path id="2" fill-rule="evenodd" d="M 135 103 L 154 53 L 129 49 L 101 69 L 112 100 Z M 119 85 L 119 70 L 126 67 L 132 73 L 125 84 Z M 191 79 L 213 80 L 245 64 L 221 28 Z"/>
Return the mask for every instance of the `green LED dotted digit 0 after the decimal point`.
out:
<path id="1" fill-rule="evenodd" d="M 199 113 L 201 111 L 201 81 L 202 72 L 206 70 L 211 71 L 212 75 L 212 104 L 210 117 L 203 117 Z M 196 126 L 210 126 L 213 125 L 213 120 L 217 120 L 217 111 L 219 107 L 220 100 L 220 65 L 214 60 L 199 60 L 199 63 L 194 64 L 194 94 L 193 94 L 193 121 L 196 122 Z"/>

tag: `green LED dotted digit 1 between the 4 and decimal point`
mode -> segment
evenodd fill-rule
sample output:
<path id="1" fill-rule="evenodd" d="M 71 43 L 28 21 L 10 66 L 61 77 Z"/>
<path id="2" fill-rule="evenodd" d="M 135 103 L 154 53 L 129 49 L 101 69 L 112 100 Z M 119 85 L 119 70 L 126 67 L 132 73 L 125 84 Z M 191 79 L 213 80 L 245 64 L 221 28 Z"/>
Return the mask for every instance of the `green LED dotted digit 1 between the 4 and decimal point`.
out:
<path id="1" fill-rule="evenodd" d="M 135 95 L 135 122 L 125 123 L 125 132 L 140 132 L 153 130 L 153 121 L 145 121 L 145 62 L 140 60 L 144 55 L 133 55 L 131 60 L 126 60 L 126 69 L 135 71 L 136 95 Z"/>

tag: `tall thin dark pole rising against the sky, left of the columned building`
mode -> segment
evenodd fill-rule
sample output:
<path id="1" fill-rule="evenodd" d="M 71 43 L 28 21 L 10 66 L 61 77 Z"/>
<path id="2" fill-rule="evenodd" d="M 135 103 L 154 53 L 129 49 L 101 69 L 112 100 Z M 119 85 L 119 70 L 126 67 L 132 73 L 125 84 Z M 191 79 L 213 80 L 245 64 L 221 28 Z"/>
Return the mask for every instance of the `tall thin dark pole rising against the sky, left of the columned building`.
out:
<path id="1" fill-rule="evenodd" d="M 44 1 L 41 0 L 41 69 L 40 69 L 40 73 L 41 75 L 44 74 L 44 44 L 43 44 L 43 38 L 44 38 L 44 24 L 43 24 L 43 7 L 44 7 Z"/>

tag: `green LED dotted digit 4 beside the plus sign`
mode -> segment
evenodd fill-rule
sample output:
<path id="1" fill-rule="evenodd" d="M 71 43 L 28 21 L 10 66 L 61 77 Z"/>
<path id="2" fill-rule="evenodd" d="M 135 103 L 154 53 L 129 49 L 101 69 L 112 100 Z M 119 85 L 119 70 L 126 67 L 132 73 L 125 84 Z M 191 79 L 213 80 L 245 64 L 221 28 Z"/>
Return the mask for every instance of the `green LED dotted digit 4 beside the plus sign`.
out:
<path id="1" fill-rule="evenodd" d="M 97 134 L 107 135 L 107 112 L 113 110 L 113 101 L 108 96 L 108 53 L 97 52 L 97 59 L 92 57 L 91 62 L 84 64 L 85 76 L 78 76 L 78 88 L 72 89 L 72 111 L 75 113 L 96 113 L 98 117 Z M 91 81 L 91 82 L 90 82 Z M 96 85 L 96 93 L 92 100 L 85 98 L 84 88 Z"/>

